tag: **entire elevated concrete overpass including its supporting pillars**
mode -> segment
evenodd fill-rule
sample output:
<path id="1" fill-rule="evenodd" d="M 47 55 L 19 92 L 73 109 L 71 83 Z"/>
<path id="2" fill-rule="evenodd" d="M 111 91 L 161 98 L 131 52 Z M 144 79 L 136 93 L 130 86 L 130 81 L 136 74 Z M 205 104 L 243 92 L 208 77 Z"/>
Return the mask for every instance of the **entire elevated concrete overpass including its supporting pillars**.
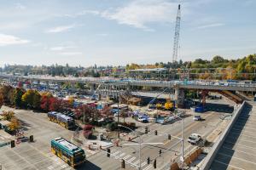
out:
<path id="1" fill-rule="evenodd" d="M 0 74 L 0 78 L 7 79 L 9 82 L 13 81 L 32 81 L 32 82 L 81 82 L 89 84 L 91 91 L 96 89 L 96 86 L 101 85 L 106 91 L 111 91 L 113 94 L 113 87 L 115 89 L 125 88 L 130 90 L 131 87 L 155 87 L 155 88 L 170 88 L 175 90 L 175 100 L 177 105 L 183 105 L 184 89 L 199 90 L 204 94 L 203 100 L 208 92 L 218 92 L 236 103 L 241 103 L 242 99 L 236 96 L 237 92 L 256 92 L 256 83 L 228 83 L 228 82 L 199 82 L 199 81 L 148 81 L 148 80 L 128 80 L 110 77 L 47 77 L 47 76 L 13 76 L 8 74 Z M 119 90 L 118 90 L 119 91 Z M 116 94 L 118 95 L 118 94 Z"/>

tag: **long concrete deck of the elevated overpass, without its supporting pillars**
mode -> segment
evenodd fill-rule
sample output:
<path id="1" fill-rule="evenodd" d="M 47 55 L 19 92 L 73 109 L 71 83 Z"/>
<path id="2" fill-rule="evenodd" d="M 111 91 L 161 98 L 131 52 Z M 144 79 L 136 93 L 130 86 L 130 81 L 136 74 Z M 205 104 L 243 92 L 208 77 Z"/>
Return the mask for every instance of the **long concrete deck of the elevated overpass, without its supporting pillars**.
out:
<path id="1" fill-rule="evenodd" d="M 183 81 L 147 81 L 147 80 L 122 80 L 117 78 L 95 77 L 38 77 L 38 76 L 13 76 L 0 74 L 0 78 L 9 80 L 30 80 L 38 82 L 82 82 L 88 84 L 105 84 L 118 86 L 139 86 L 158 88 L 183 88 L 204 90 L 228 90 L 241 92 L 256 92 L 256 83 L 213 83 L 213 82 L 183 82 Z"/>

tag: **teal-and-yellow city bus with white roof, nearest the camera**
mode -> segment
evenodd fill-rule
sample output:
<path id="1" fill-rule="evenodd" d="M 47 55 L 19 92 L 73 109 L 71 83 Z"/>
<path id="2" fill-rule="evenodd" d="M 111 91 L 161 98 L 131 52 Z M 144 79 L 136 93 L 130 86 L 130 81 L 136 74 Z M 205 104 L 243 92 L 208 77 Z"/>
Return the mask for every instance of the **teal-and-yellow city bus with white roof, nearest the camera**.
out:
<path id="1" fill-rule="evenodd" d="M 84 150 L 63 138 L 51 140 L 51 151 L 71 167 L 77 167 L 85 161 Z"/>

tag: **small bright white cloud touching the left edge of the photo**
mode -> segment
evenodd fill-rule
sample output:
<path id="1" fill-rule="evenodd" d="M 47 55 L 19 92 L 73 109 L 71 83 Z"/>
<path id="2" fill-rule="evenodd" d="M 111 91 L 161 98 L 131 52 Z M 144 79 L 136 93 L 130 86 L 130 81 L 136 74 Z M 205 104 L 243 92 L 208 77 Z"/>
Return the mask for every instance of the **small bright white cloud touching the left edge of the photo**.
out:
<path id="1" fill-rule="evenodd" d="M 15 37 L 7 34 L 0 34 L 0 46 L 24 44 L 30 42 L 26 39 L 21 39 L 20 37 Z"/>

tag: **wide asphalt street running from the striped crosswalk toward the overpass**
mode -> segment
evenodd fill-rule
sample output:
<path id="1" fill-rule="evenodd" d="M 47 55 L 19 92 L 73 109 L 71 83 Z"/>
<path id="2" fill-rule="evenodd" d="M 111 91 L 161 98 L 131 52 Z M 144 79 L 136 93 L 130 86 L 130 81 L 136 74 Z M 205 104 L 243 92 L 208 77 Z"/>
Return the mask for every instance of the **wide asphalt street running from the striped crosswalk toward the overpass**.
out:
<path id="1" fill-rule="evenodd" d="M 216 112 L 209 112 L 203 114 L 203 117 L 206 118 L 205 122 L 193 122 L 192 116 L 189 116 L 185 119 L 185 127 L 184 127 L 184 148 L 185 153 L 188 153 L 189 150 L 192 150 L 195 146 L 189 144 L 187 142 L 187 138 L 191 133 L 201 133 L 201 135 L 206 136 L 208 133 L 211 133 L 213 129 L 218 126 L 218 123 L 221 120 L 218 116 L 222 113 Z M 172 138 L 171 141 L 168 141 L 166 135 L 160 134 L 158 136 L 154 135 L 154 130 L 157 129 L 159 132 L 164 133 L 171 133 L 172 135 L 181 137 L 181 122 L 174 122 L 173 124 L 169 125 L 160 125 L 160 124 L 153 124 L 151 132 L 148 135 L 143 135 L 142 139 L 145 143 L 158 143 L 163 142 L 165 144 L 157 144 L 157 145 L 143 145 L 141 150 L 142 155 L 142 169 L 151 170 L 154 169 L 153 158 L 159 156 L 159 150 L 163 151 L 162 156 L 157 158 L 157 167 L 164 167 L 167 163 L 170 162 L 171 159 L 174 159 L 175 152 L 178 155 L 180 153 L 180 144 L 177 144 L 173 150 L 165 150 L 168 149 L 172 144 L 177 143 L 177 139 Z M 123 142 L 123 144 L 135 144 L 138 143 L 139 138 L 134 139 L 133 142 Z M 111 148 L 111 153 L 115 156 L 119 156 L 120 159 L 125 159 L 125 161 L 129 161 L 133 164 L 139 165 L 139 155 L 138 155 L 138 145 L 123 145 L 122 147 L 113 146 Z M 148 156 L 151 158 L 151 162 L 148 165 L 146 160 Z M 120 161 L 118 161 L 114 156 L 108 158 L 105 152 L 100 152 L 96 156 L 90 156 L 89 161 L 95 163 L 97 166 L 102 167 L 102 169 L 110 170 L 120 167 Z M 110 161 L 111 163 L 108 163 Z M 113 162 L 113 163 L 112 163 Z M 131 167 L 130 165 L 126 164 L 126 169 L 136 169 L 135 167 Z"/>

